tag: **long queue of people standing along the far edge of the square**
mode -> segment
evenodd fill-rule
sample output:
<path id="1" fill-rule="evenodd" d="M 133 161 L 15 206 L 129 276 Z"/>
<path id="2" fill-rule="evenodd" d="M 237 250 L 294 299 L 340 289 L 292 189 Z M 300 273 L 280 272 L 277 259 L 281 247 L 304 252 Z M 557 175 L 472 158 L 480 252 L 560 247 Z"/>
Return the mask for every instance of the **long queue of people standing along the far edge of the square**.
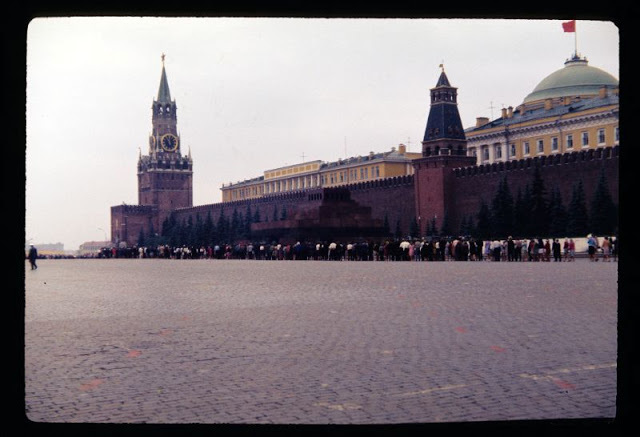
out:
<path id="1" fill-rule="evenodd" d="M 592 261 L 617 260 L 616 238 L 587 238 L 587 254 Z M 601 255 L 601 256 L 600 256 Z M 296 242 L 294 244 L 252 243 L 209 246 L 103 248 L 102 258 L 166 259 L 249 259 L 328 261 L 507 261 L 571 262 L 576 258 L 573 238 L 514 239 L 482 241 L 474 238 L 430 238 L 385 240 L 381 242 Z"/>

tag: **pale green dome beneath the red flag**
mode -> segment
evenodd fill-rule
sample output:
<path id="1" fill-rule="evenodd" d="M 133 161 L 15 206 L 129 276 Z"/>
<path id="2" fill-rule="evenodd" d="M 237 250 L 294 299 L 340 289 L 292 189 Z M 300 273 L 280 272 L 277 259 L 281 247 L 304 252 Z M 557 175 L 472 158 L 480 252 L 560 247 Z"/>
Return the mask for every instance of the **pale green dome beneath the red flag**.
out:
<path id="1" fill-rule="evenodd" d="M 549 98 L 597 95 L 603 86 L 618 86 L 618 79 L 604 70 L 590 67 L 584 58 L 574 57 L 564 68 L 545 77 L 524 99 L 524 103 Z"/>

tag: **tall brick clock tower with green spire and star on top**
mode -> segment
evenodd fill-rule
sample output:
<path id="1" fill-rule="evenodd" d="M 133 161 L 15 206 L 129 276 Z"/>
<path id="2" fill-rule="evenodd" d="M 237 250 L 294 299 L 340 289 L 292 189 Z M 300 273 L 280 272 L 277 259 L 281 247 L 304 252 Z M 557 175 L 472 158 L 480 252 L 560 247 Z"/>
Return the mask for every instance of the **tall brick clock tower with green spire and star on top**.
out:
<path id="1" fill-rule="evenodd" d="M 193 161 L 190 151 L 182 154 L 178 108 L 171 99 L 164 57 L 158 96 L 151 105 L 148 155 L 140 152 L 138 159 L 138 203 L 157 206 L 159 223 L 172 210 L 193 206 Z"/>

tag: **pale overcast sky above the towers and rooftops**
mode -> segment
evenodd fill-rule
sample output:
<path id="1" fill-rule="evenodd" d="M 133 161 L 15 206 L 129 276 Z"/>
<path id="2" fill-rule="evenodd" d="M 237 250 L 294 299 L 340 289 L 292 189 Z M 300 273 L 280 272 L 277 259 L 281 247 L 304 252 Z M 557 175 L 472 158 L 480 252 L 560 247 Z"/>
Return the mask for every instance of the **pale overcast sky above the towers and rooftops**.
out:
<path id="1" fill-rule="evenodd" d="M 26 238 L 74 250 L 110 238 L 111 206 L 137 204 L 163 53 L 202 205 L 221 200 L 223 183 L 266 169 L 400 143 L 418 152 L 442 63 L 465 128 L 499 117 L 573 54 L 563 21 L 35 19 Z M 577 43 L 589 65 L 619 77 L 614 24 L 578 21 Z"/>

